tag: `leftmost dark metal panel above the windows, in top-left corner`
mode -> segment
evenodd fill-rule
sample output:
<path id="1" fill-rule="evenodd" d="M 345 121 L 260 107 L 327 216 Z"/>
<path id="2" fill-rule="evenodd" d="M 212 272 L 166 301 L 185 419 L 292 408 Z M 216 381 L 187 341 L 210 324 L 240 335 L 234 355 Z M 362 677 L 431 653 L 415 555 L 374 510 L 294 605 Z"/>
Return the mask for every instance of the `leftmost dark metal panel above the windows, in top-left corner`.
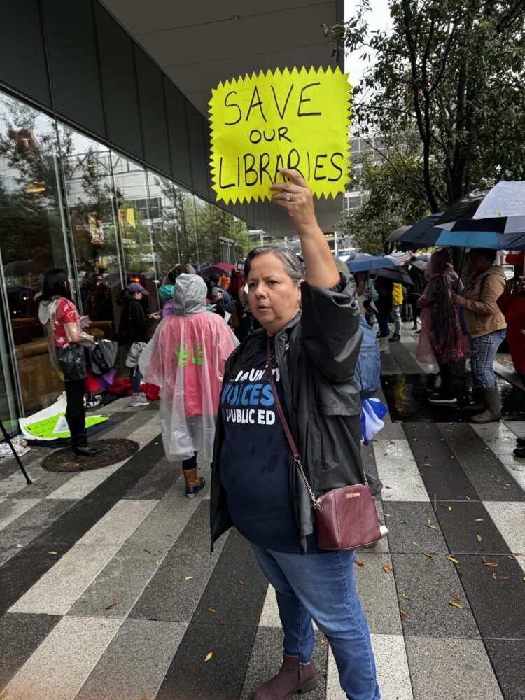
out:
<path id="1" fill-rule="evenodd" d="M 52 107 L 38 0 L 2 3 L 0 80 Z"/>

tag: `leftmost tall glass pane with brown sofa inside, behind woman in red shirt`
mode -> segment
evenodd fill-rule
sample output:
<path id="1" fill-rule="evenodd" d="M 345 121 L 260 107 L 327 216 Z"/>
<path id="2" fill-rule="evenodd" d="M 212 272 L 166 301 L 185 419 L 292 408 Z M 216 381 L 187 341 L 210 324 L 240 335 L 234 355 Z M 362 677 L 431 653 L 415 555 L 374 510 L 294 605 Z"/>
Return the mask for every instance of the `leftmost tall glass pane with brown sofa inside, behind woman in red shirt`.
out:
<path id="1" fill-rule="evenodd" d="M 69 143 L 62 148 L 67 152 Z M 54 123 L 0 93 L 1 281 L 26 414 L 54 400 L 63 388 L 50 364 L 35 298 L 48 269 L 69 269 L 61 196 Z"/>

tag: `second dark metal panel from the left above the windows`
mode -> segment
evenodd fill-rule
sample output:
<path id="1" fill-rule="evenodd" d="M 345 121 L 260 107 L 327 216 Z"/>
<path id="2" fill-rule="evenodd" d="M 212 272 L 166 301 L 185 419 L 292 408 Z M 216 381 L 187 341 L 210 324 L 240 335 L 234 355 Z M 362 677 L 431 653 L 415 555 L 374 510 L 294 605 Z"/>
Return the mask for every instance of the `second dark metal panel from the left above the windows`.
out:
<path id="1" fill-rule="evenodd" d="M 106 139 L 92 1 L 42 6 L 55 110 Z"/>

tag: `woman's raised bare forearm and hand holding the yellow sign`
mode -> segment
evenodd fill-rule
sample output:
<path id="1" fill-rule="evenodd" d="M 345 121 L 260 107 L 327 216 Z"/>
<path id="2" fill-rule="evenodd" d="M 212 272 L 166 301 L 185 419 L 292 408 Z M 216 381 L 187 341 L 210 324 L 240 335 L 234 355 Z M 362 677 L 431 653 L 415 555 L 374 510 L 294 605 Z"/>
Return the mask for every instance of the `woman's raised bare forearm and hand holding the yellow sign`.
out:
<path id="1" fill-rule="evenodd" d="M 306 281 L 315 287 L 330 289 L 339 281 L 339 272 L 314 211 L 311 190 L 302 176 L 288 168 L 279 172 L 289 182 L 270 186 L 272 201 L 284 207 L 301 241 L 302 257 L 306 266 Z"/>

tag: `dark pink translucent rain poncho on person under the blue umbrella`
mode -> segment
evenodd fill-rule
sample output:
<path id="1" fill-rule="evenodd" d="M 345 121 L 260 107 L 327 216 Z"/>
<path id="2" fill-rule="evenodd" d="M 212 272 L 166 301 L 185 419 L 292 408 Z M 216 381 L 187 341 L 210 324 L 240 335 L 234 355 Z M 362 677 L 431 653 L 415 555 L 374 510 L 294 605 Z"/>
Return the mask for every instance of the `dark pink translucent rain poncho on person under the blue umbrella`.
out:
<path id="1" fill-rule="evenodd" d="M 458 309 L 451 299 L 458 287 L 458 275 L 452 267 L 450 248 L 432 253 L 425 269 L 425 279 L 425 290 L 417 300 L 421 309 L 421 335 L 416 360 L 440 365 L 458 362 L 469 350 Z M 461 288 L 459 281 L 460 291 Z"/>

